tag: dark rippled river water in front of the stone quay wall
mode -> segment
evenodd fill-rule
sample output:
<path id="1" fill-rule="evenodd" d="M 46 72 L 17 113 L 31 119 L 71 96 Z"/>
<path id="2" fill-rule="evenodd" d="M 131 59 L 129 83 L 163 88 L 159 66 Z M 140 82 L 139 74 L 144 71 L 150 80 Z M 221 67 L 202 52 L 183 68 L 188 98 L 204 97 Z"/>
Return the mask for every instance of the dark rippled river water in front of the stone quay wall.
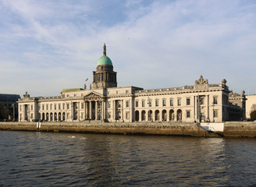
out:
<path id="1" fill-rule="evenodd" d="M 255 186 L 256 139 L 0 131 L 0 186 Z"/>

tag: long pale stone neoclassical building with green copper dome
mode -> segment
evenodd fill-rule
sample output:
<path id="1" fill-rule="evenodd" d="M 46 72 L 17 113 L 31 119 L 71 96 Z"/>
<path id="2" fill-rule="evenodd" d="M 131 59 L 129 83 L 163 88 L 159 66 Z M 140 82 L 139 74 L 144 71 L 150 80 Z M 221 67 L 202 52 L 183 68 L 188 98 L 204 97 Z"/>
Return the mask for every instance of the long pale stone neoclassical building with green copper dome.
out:
<path id="1" fill-rule="evenodd" d="M 203 76 L 193 86 L 152 90 L 118 87 L 104 44 L 92 87 L 64 89 L 56 97 L 26 93 L 18 104 L 20 122 L 223 122 L 229 119 L 229 87 L 226 79 L 209 84 Z"/>

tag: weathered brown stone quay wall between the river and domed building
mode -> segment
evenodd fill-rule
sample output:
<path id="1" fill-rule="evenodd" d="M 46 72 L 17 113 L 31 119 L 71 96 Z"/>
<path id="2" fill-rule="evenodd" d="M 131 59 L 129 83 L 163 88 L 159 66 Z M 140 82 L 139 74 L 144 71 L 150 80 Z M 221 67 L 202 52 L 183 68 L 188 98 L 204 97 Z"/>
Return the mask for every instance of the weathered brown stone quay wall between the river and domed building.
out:
<path id="1" fill-rule="evenodd" d="M 81 132 L 146 134 L 197 137 L 256 137 L 256 122 L 225 122 L 224 132 L 207 132 L 195 123 L 182 122 L 0 122 L 0 130 L 40 131 L 40 132 Z"/>

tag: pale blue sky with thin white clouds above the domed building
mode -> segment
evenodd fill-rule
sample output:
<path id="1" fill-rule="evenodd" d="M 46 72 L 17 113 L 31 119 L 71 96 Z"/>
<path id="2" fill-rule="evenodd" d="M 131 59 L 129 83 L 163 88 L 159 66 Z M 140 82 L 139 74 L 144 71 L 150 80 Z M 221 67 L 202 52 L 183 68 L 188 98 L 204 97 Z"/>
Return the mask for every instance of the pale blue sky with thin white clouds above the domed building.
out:
<path id="1" fill-rule="evenodd" d="M 256 94 L 254 0 L 0 0 L 0 93 L 89 87 L 103 44 L 118 86 Z"/>

